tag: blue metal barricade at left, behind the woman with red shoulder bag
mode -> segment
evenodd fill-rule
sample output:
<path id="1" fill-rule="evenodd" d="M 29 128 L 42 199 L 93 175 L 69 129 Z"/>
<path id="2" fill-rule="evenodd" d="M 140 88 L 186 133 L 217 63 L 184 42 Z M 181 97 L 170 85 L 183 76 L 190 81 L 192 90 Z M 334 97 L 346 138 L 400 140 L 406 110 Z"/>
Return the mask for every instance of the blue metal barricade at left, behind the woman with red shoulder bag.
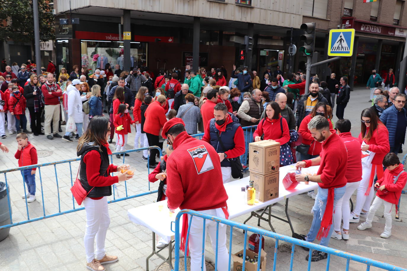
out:
<path id="1" fill-rule="evenodd" d="M 113 163 L 113 155 L 125 154 L 125 153 L 129 153 L 129 152 L 140 152 L 140 151 L 143 151 L 143 150 L 151 150 L 151 149 L 157 149 L 160 152 L 160 156 L 162 156 L 162 151 L 161 151 L 160 147 L 151 146 L 151 147 L 145 147 L 145 148 L 143 147 L 143 148 L 134 149 L 134 150 L 125 150 L 125 151 L 121 151 L 121 152 L 114 152 L 110 156 L 110 159 L 111 159 L 111 161 Z M 125 157 L 126 156 L 123 155 L 123 163 L 125 163 Z M 147 160 L 148 173 L 150 173 L 150 168 L 149 168 L 150 160 L 149 159 L 150 159 L 150 157 L 148 156 L 148 160 Z M 60 197 L 60 191 L 59 191 L 60 185 L 58 183 L 59 180 L 63 180 L 63 179 L 67 180 L 68 179 L 68 180 L 70 180 L 70 186 L 68 185 L 67 189 L 70 189 L 70 187 L 73 185 L 73 182 L 74 182 L 73 178 L 76 177 L 76 176 L 72 175 L 72 162 L 77 162 L 77 161 L 80 161 L 80 160 L 81 160 L 81 158 L 79 157 L 79 158 L 74 158 L 74 159 L 70 159 L 70 160 L 62 160 L 62 161 L 56 161 L 56 162 L 50 162 L 50 163 L 30 165 L 30 166 L 25 166 L 25 167 L 17 167 L 17 168 L 13 168 L 13 169 L 0 170 L 0 174 L 4 173 L 4 180 L 6 182 L 6 187 L 7 187 L 7 201 L 8 201 L 9 213 L 10 213 L 10 224 L 0 226 L 0 230 L 2 230 L 4 228 L 10 228 L 10 227 L 13 227 L 13 226 L 17 226 L 17 225 L 21 225 L 21 224 L 25 224 L 25 223 L 29 223 L 29 222 L 33 222 L 33 221 L 37 221 L 37 220 L 41 220 L 41 219 L 46 219 L 46 218 L 49 218 L 49 217 L 55 217 L 55 216 L 58 216 L 58 215 L 63 215 L 63 214 L 68 214 L 70 212 L 76 212 L 76 211 L 79 211 L 79 210 L 83 210 L 84 207 L 79 207 L 77 205 L 77 203 L 75 202 L 75 199 L 74 199 L 73 196 L 71 196 L 72 197 L 72 209 L 61 210 L 61 197 Z M 69 165 L 68 178 L 67 177 L 58 178 L 57 165 L 66 165 L 66 164 Z M 68 167 L 68 165 L 66 165 L 66 167 Z M 55 172 L 55 184 L 57 186 L 56 193 L 57 193 L 57 199 L 58 199 L 58 211 L 57 212 L 52 212 L 51 211 L 51 213 L 47 214 L 48 210 L 46 210 L 45 201 L 44 201 L 44 187 L 43 187 L 43 180 L 42 180 L 43 179 L 43 174 L 41 173 L 41 170 L 42 170 L 43 167 L 51 167 L 51 166 L 53 166 L 53 172 Z M 144 166 L 144 164 L 143 164 L 143 166 Z M 79 163 L 78 163 L 78 167 L 79 167 Z M 78 169 L 78 167 L 76 167 L 76 169 Z M 31 208 L 28 208 L 27 199 L 25 199 L 27 219 L 23 220 L 23 221 L 15 222 L 15 221 L 13 221 L 12 212 L 11 212 L 12 206 L 11 206 L 11 199 L 10 199 L 10 193 L 9 193 L 9 186 L 7 185 L 7 183 L 8 183 L 7 173 L 11 172 L 11 171 L 22 171 L 24 169 L 32 169 L 32 168 L 38 168 L 39 184 L 40 184 L 39 186 L 41 188 L 41 199 L 42 199 L 42 215 L 34 217 L 34 218 L 30 217 L 29 210 Z M 66 176 L 67 174 L 65 173 L 65 174 L 61 174 L 61 175 Z M 46 177 L 49 178 L 49 176 L 46 176 Z M 37 181 L 38 181 L 38 179 L 37 179 Z M 119 201 L 122 201 L 122 200 L 132 199 L 132 198 L 135 198 L 135 197 L 141 197 L 141 196 L 144 196 L 144 195 L 150 195 L 150 194 L 158 192 L 158 190 L 150 191 L 150 182 L 148 180 L 147 180 L 147 183 L 148 183 L 148 190 L 149 190 L 148 192 L 138 193 L 138 194 L 135 194 L 135 195 L 129 195 L 129 193 L 127 191 L 127 181 L 124 181 L 125 197 L 119 197 L 118 189 L 116 187 L 116 184 L 114 184 L 113 185 L 113 191 L 112 191 L 113 199 L 108 201 L 108 203 L 119 202 Z M 38 182 L 37 182 L 37 184 L 38 184 Z M 69 184 L 69 182 L 68 182 L 68 184 Z M 25 183 L 25 180 L 24 180 L 24 176 L 22 178 L 22 185 L 24 186 L 24 195 L 26 195 L 27 191 L 26 191 L 26 183 Z M 70 191 L 68 193 L 70 193 Z M 54 194 L 55 194 L 55 191 L 53 191 L 53 195 Z M 63 204 L 65 205 L 65 204 L 68 204 L 68 203 L 63 202 Z M 55 207 L 53 205 L 50 205 L 50 209 L 53 209 L 53 208 L 55 208 Z"/>

